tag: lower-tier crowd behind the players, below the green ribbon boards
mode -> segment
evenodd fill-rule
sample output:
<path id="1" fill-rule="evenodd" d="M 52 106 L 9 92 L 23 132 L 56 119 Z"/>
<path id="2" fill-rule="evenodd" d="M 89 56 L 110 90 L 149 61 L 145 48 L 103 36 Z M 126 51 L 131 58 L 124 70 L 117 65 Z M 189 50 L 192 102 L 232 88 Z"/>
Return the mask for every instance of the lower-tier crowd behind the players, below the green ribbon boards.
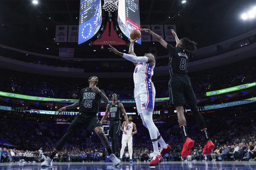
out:
<path id="1" fill-rule="evenodd" d="M 195 145 L 191 149 L 190 155 L 184 159 L 180 156 L 182 136 L 176 120 L 172 119 L 168 123 L 155 122 L 163 139 L 171 146 L 171 152 L 164 156 L 164 161 L 255 161 L 256 124 L 253 117 L 254 112 L 245 112 L 237 115 L 234 115 L 232 110 L 229 110 L 229 112 L 222 110 L 222 112 L 226 113 L 216 112 L 211 115 L 203 115 L 211 140 L 214 141 L 215 146 L 209 155 L 202 155 L 203 138 L 195 118 L 192 115 L 186 115 L 189 137 L 195 142 Z M 5 158 L 2 156 L 4 162 L 19 160 L 20 162 L 43 161 L 43 156 L 46 158 L 50 154 L 68 127 L 68 124 L 55 124 L 53 121 L 44 123 L 27 122 L 18 117 L 13 119 L 13 116 L 10 118 L 1 117 L 0 119 L 2 122 L 0 131 L 3 132 L 1 138 L 15 145 L 8 148 L 2 146 L 3 150 L 6 150 Z M 161 119 L 163 118 L 158 118 L 158 120 Z M 142 133 L 145 127 L 139 117 L 134 119 L 133 122 L 137 127 L 137 134 L 133 136 L 133 162 L 150 161 L 152 148 L 149 134 Z M 143 142 L 141 143 L 141 141 Z M 121 136 L 119 138 L 120 143 Z M 38 151 L 40 147 L 42 148 L 43 156 Z M 99 162 L 107 161 L 106 156 L 107 152 L 100 140 L 90 130 L 84 129 L 73 136 L 53 161 Z M 121 157 L 123 161 L 128 161 L 127 148 Z"/>

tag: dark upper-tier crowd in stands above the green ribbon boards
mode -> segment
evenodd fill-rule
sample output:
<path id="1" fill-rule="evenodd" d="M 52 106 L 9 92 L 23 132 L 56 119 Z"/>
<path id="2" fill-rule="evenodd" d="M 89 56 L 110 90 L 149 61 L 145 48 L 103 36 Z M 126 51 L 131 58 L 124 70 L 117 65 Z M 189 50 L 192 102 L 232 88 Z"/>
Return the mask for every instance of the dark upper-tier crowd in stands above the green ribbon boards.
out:
<path id="1" fill-rule="evenodd" d="M 198 72 L 189 72 L 192 87 L 197 97 L 205 92 L 224 89 L 256 81 L 255 59 L 247 59 L 217 68 Z M 130 78 L 100 78 L 99 88 L 106 94 L 115 92 L 119 99 L 133 99 L 133 83 Z M 56 81 L 57 80 L 57 81 Z M 81 79 L 38 76 L 27 73 L 17 73 L 0 69 L 0 91 L 30 96 L 51 97 L 61 99 L 77 99 L 82 88 L 87 87 L 87 77 Z M 168 76 L 153 77 L 156 98 L 168 97 Z M 207 104 L 207 103 L 206 103 Z"/>

